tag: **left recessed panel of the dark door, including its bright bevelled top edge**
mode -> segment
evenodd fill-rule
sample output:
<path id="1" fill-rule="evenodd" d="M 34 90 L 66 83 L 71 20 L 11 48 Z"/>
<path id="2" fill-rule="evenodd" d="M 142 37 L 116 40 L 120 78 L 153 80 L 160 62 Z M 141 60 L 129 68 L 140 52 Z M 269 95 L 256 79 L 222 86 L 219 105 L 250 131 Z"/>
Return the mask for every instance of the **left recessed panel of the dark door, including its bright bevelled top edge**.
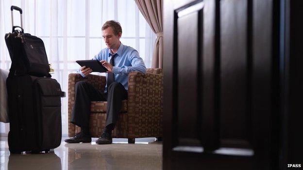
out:
<path id="1" fill-rule="evenodd" d="M 199 145 L 198 125 L 201 124 L 200 105 L 197 105 L 200 98 L 198 87 L 200 83 L 199 70 L 201 69 L 201 15 L 202 2 L 176 10 L 178 32 L 178 131 L 179 145 L 193 143 Z M 196 21 L 196 22 L 192 22 Z M 191 34 L 188 34 L 191 32 Z M 185 102 L 190 101 L 190 102 Z"/>

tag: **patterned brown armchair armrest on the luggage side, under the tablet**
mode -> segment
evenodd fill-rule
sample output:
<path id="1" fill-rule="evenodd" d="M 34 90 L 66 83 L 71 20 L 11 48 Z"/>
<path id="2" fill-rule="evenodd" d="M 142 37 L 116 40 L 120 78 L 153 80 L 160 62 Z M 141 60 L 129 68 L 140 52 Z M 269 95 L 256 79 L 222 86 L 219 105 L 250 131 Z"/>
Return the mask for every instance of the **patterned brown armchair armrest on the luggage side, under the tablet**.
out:
<path id="1" fill-rule="evenodd" d="M 106 78 L 104 76 L 89 74 L 82 77 L 78 73 L 71 73 L 68 75 L 68 137 L 75 136 L 75 124 L 70 123 L 71 109 L 75 103 L 75 84 L 78 81 L 90 82 L 96 89 L 104 90 Z"/>

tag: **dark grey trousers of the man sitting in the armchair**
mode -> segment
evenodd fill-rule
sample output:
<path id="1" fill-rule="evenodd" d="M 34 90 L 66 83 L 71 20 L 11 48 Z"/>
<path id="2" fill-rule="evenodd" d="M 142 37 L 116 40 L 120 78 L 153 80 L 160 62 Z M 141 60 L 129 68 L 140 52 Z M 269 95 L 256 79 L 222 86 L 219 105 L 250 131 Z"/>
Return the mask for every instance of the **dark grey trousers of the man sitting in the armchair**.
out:
<path id="1" fill-rule="evenodd" d="M 94 88 L 86 81 L 75 84 L 75 104 L 71 112 L 71 123 L 79 127 L 89 128 L 90 102 L 107 101 L 106 124 L 116 124 L 122 100 L 127 99 L 127 91 L 119 82 L 113 82 L 107 93 Z"/>

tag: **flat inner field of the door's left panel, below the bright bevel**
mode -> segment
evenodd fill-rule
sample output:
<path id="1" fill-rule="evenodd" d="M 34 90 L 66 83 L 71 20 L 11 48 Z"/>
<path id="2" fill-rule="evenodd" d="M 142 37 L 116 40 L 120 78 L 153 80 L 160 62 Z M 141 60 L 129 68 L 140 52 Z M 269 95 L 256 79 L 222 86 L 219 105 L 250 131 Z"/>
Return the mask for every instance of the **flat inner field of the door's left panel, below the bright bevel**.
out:
<path id="1" fill-rule="evenodd" d="M 178 18 L 178 129 L 184 129 L 179 131 L 180 138 L 197 137 L 198 27 L 191 20 L 198 20 L 197 13 Z M 184 105 L 187 100 L 191 102 Z"/>

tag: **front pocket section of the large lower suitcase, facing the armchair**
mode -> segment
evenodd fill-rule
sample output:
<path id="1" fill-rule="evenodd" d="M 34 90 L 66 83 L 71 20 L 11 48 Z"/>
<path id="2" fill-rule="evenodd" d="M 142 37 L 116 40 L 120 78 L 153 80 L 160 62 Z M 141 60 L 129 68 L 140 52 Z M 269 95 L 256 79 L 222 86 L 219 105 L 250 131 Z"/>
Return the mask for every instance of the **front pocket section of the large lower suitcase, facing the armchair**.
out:
<path id="1" fill-rule="evenodd" d="M 37 90 L 39 103 L 39 144 L 41 150 L 56 148 L 61 144 L 61 88 L 52 78 L 39 78 Z"/>

